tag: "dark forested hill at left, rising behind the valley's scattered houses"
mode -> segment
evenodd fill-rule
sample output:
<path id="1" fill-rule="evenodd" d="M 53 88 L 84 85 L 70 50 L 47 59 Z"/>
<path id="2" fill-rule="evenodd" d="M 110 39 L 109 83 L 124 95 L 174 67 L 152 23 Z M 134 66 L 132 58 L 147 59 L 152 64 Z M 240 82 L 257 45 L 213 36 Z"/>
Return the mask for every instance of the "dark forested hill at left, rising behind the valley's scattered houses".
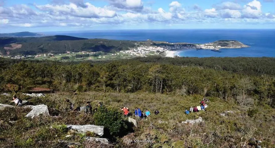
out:
<path id="1" fill-rule="evenodd" d="M 47 37 L 0 38 L 2 55 L 34 55 L 37 53 L 66 53 L 66 51 L 119 51 L 134 47 L 132 41 L 86 39 L 65 35 Z"/>

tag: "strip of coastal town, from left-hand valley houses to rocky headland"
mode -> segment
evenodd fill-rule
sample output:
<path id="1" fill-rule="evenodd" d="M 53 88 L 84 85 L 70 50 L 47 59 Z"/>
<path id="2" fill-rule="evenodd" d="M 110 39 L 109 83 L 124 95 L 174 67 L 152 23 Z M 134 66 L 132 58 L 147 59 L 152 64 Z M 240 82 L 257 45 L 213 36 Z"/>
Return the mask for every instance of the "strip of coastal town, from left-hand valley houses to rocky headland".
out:
<path id="1" fill-rule="evenodd" d="M 147 40 L 148 41 L 148 40 Z M 121 50 L 117 53 L 103 53 L 98 52 L 71 52 L 66 51 L 66 53 L 44 53 L 36 55 L 0 55 L 0 57 L 11 58 L 11 59 L 45 59 L 45 58 L 60 58 L 60 59 L 70 59 L 70 58 L 82 58 L 90 57 L 89 59 L 101 59 L 101 58 L 114 58 L 114 57 L 147 57 L 148 55 L 164 55 L 166 57 L 174 57 L 176 53 L 180 50 L 190 50 L 190 49 L 211 49 L 212 51 L 219 51 L 220 48 L 244 48 L 249 47 L 244 45 L 239 41 L 233 40 L 220 40 L 212 43 L 206 44 L 188 44 L 188 43 L 168 43 L 168 42 L 154 42 L 151 41 L 149 45 L 137 44 L 136 47 L 128 48 L 127 50 Z M 64 58 L 65 57 L 65 58 Z M 93 57 L 93 58 L 92 58 Z"/>

